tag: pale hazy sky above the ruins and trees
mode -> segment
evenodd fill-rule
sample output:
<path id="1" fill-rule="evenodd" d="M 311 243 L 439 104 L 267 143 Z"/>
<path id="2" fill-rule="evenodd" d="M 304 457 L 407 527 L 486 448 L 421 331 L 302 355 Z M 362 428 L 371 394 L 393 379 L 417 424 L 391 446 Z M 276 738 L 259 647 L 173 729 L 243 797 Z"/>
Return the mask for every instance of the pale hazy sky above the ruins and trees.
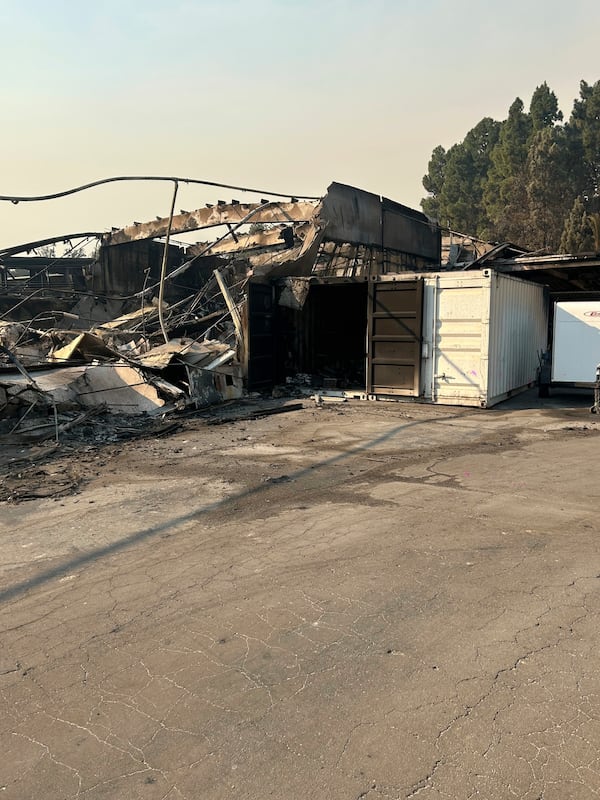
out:
<path id="1" fill-rule="evenodd" d="M 0 0 L 0 29 L 3 195 L 153 174 L 418 207 L 437 144 L 543 81 L 568 116 L 600 79 L 598 0 Z M 166 215 L 170 194 L 2 203 L 0 247 Z"/>

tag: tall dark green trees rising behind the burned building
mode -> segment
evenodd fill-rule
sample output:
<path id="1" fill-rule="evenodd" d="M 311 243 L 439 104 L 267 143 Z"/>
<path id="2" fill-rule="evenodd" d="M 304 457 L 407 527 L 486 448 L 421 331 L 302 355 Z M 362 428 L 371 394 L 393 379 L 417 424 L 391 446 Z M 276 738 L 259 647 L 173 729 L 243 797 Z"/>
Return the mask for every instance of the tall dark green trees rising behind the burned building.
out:
<path id="1" fill-rule="evenodd" d="M 600 81 L 581 81 L 568 120 L 544 82 L 462 142 L 431 154 L 423 211 L 442 227 L 530 250 L 600 250 Z"/>

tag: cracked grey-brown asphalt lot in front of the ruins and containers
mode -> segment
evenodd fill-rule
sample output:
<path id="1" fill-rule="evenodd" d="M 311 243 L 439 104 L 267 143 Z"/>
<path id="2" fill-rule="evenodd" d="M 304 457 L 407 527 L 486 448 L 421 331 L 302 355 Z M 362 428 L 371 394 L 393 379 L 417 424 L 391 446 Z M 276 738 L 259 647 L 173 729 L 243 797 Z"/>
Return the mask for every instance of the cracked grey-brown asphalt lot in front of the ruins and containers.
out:
<path id="1" fill-rule="evenodd" d="M 523 395 L 82 453 L 2 504 L 2 797 L 596 796 L 599 447 Z"/>

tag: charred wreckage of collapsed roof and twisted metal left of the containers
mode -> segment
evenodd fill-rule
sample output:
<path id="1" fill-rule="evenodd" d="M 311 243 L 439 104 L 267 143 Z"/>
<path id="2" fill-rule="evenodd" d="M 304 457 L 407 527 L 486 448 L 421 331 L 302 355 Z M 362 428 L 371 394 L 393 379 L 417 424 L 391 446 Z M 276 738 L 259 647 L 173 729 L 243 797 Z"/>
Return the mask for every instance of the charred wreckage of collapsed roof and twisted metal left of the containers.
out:
<path id="1" fill-rule="evenodd" d="M 430 258 L 385 242 L 384 213 L 401 223 L 422 218 L 427 230 L 412 251 L 422 253 L 429 236 Z M 397 236 L 397 226 L 389 230 Z M 177 240 L 194 231 L 203 241 Z M 59 243 L 94 240 L 93 254 L 55 255 Z M 439 231 L 423 215 L 335 183 L 321 199 L 218 200 L 0 250 L 0 433 L 45 425 L 58 437 L 98 415 L 164 418 L 242 398 L 257 341 L 251 284 L 298 308 L 315 277 L 368 280 L 436 260 Z M 254 319 L 268 337 L 276 336 L 271 317 L 259 309 Z M 307 382 L 288 376 L 288 385 Z"/>

